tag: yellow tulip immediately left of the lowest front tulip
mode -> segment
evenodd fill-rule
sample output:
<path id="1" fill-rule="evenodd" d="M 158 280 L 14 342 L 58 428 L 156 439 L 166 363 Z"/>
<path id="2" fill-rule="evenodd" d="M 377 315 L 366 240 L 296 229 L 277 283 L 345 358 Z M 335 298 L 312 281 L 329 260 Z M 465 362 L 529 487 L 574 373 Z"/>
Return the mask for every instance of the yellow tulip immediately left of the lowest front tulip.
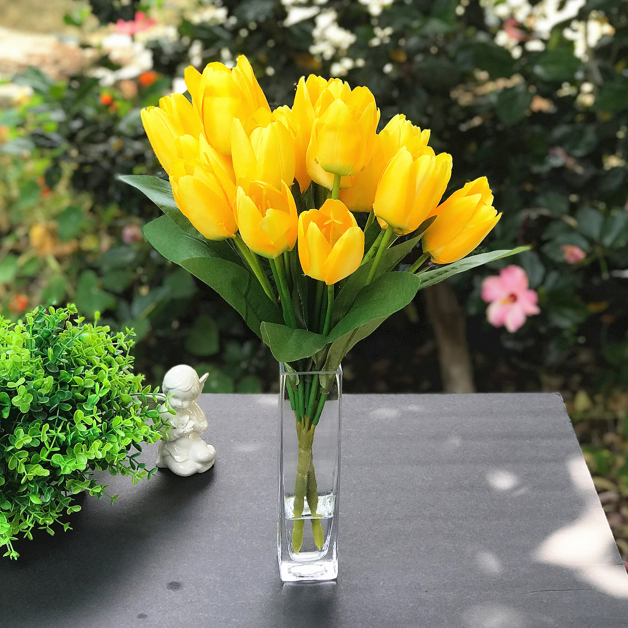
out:
<path id="1" fill-rule="evenodd" d="M 296 243 L 295 199 L 285 182 L 281 192 L 261 181 L 238 180 L 235 214 L 240 235 L 251 251 L 274 259 Z"/>

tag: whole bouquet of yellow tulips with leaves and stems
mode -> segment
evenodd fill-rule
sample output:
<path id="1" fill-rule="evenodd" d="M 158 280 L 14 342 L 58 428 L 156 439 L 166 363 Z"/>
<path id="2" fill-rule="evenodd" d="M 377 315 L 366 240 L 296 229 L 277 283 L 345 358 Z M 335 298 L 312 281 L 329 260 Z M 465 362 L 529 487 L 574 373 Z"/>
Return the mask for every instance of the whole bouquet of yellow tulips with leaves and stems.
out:
<path id="1" fill-rule="evenodd" d="M 232 69 L 189 67 L 185 82 L 191 102 L 173 94 L 142 112 L 169 181 L 123 179 L 165 214 L 144 228 L 151 244 L 214 288 L 295 373 L 298 552 L 305 501 L 317 511 L 312 443 L 330 382 L 296 372 L 337 371 L 421 288 L 521 249 L 462 259 L 501 217 L 486 178 L 441 202 L 452 157 L 403 114 L 377 133 L 366 87 L 312 75 L 291 108 L 273 110 L 245 57 Z M 320 547 L 316 519 L 312 529 Z"/>

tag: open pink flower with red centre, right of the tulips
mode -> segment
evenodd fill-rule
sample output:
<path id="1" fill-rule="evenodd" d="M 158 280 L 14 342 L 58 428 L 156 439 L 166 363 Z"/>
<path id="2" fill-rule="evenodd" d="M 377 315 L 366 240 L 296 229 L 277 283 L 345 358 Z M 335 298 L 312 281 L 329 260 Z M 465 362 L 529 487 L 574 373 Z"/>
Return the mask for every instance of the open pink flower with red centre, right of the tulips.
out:
<path id="1" fill-rule="evenodd" d="M 494 327 L 506 327 L 516 332 L 526 317 L 538 314 L 536 305 L 539 297 L 535 290 L 528 289 L 528 275 L 521 266 L 506 266 L 499 276 L 487 277 L 482 281 L 482 299 L 490 305 L 486 318 Z"/>

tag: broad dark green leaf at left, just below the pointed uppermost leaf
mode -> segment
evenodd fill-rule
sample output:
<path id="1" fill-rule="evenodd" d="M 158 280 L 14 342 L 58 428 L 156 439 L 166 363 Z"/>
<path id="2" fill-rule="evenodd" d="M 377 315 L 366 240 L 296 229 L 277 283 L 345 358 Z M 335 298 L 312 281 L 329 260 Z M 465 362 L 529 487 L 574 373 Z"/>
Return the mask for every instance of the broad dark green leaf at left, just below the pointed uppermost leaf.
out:
<path id="1" fill-rule="evenodd" d="M 181 232 L 167 216 L 149 222 L 144 227 L 144 235 L 166 259 L 183 266 L 214 288 L 259 337 L 261 322 L 282 322 L 278 305 L 268 298 L 252 273 L 215 257 L 207 244 Z"/>

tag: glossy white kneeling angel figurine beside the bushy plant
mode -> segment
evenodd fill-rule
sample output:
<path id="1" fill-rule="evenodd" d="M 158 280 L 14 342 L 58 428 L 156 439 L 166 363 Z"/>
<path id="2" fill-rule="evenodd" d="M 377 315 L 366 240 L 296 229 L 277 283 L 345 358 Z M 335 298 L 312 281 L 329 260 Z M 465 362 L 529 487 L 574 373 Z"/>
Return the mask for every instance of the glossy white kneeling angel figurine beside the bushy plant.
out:
<path id="1" fill-rule="evenodd" d="M 170 423 L 170 430 L 160 442 L 157 467 L 186 476 L 203 473 L 214 465 L 216 450 L 200 437 L 207 431 L 207 419 L 197 403 L 207 376 L 205 373 L 199 379 L 187 364 L 172 367 L 164 376 L 162 390 L 167 399 L 159 413 Z"/>

